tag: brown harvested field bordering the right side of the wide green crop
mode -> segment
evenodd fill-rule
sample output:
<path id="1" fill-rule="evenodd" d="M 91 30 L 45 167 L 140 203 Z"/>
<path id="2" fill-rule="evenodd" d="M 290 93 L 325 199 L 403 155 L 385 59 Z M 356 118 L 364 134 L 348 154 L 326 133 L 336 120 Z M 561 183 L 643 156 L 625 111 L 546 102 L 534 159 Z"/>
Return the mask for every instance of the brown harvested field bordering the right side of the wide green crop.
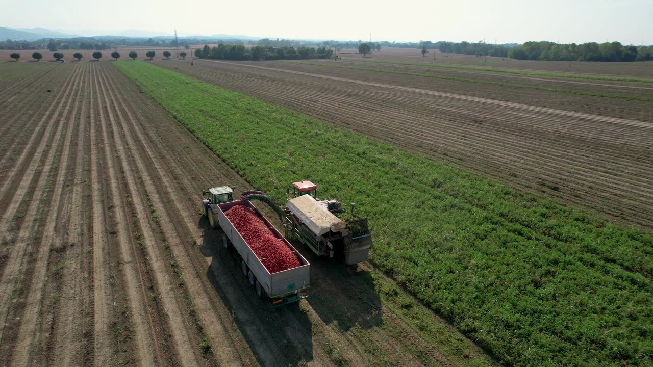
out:
<path id="1" fill-rule="evenodd" d="M 653 144 L 646 138 L 652 135 L 653 118 L 648 116 L 653 104 L 648 102 L 545 91 L 535 91 L 528 101 L 519 97 L 521 91 L 508 95 L 510 101 L 500 101 L 439 91 L 437 85 L 413 88 L 410 82 L 384 79 L 385 73 L 345 78 L 339 69 L 291 63 L 199 60 L 195 67 L 182 61 L 157 65 L 498 178 L 512 187 L 653 228 L 649 210 Z M 295 70 L 297 66 L 302 71 Z M 476 88 L 458 84 L 458 88 Z M 511 92 L 497 88 L 495 95 L 502 93 Z M 594 116 L 580 104 L 573 110 L 540 106 L 556 100 L 573 103 L 572 97 L 615 112 Z M 613 117 L 620 114 L 623 117 Z"/>

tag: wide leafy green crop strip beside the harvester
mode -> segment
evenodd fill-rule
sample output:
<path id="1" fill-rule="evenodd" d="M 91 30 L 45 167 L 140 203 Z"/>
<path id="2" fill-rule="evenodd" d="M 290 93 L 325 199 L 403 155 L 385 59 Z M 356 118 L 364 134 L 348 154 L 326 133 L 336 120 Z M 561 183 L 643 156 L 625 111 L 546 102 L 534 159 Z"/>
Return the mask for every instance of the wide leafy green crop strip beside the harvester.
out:
<path id="1" fill-rule="evenodd" d="M 310 179 L 355 202 L 372 263 L 503 364 L 653 362 L 650 234 L 174 71 L 113 65 L 253 186 L 281 199 Z"/>

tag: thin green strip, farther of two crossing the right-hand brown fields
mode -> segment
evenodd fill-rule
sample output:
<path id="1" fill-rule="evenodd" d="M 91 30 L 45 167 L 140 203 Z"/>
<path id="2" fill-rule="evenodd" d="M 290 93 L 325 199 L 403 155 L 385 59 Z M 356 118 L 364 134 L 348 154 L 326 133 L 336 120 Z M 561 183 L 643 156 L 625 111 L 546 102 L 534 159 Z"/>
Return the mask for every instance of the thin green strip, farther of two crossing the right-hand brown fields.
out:
<path id="1" fill-rule="evenodd" d="M 593 75 L 593 74 L 573 74 L 571 72 L 550 72 L 541 70 L 524 70 L 524 69 L 506 69 L 503 67 L 479 67 L 468 65 L 451 65 L 451 64 L 428 64 L 428 63 L 406 63 L 401 61 L 381 61 L 381 60 L 364 60 L 343 57 L 346 61 L 363 61 L 367 63 L 381 63 L 381 64 L 394 64 L 394 65 L 414 65 L 421 67 L 436 67 L 443 69 L 464 69 L 473 71 L 490 71 L 490 72 L 503 72 L 506 74 L 520 74 L 532 76 L 550 76 L 551 78 L 571 78 L 571 79 L 586 79 L 586 80 L 614 80 L 617 82 L 637 82 L 637 83 L 653 83 L 650 78 L 633 78 L 632 76 L 616 76 L 616 75 Z"/>

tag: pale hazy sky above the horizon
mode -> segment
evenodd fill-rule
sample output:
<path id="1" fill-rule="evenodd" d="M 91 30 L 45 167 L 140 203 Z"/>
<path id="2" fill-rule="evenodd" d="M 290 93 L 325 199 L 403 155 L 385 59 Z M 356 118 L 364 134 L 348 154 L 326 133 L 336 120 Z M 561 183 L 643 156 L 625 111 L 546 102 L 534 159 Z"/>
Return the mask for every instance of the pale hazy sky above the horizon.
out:
<path id="1" fill-rule="evenodd" d="M 159 35 L 336 40 L 653 44 L 653 0 L 3 0 L 0 26 L 84 36 Z"/>

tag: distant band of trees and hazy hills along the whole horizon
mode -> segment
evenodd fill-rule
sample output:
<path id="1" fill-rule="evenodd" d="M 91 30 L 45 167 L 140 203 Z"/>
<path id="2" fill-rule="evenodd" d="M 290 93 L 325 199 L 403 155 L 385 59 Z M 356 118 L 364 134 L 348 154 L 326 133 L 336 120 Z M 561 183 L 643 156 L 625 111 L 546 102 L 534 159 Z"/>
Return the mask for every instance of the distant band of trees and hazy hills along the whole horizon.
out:
<path id="1" fill-rule="evenodd" d="M 244 42 L 253 42 L 261 48 L 247 50 Z M 361 45 L 369 46 L 370 51 L 379 51 L 385 47 L 417 48 L 419 50 L 439 49 L 440 52 L 476 56 L 511 57 L 522 60 L 557 60 L 557 61 L 639 61 L 653 60 L 653 46 L 624 46 L 620 42 L 583 44 L 556 44 L 554 42 L 526 42 L 524 44 L 488 44 L 479 42 L 364 42 L 357 41 L 307 41 L 290 39 L 261 39 L 259 41 L 242 39 L 195 39 L 180 40 L 179 46 L 189 49 L 190 44 L 218 43 L 219 50 L 211 48 L 207 52 L 200 50 L 204 58 L 215 59 L 310 59 L 330 58 L 332 51 L 342 49 L 358 50 Z M 116 46 L 170 46 L 176 47 L 174 38 L 170 37 L 77 37 L 70 39 L 39 39 L 35 41 L 0 41 L 0 50 L 110 50 Z M 367 49 L 363 46 L 363 49 Z M 422 52 L 426 55 L 426 52 Z"/>

